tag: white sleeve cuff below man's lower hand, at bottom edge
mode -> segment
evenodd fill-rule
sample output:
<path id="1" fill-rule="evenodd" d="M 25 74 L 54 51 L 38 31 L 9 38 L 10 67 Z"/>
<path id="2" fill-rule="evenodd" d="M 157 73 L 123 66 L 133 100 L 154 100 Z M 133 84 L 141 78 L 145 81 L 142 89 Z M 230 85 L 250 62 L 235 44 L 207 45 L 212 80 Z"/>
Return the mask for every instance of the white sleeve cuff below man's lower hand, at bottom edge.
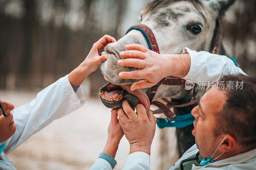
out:
<path id="1" fill-rule="evenodd" d="M 134 152 L 127 156 L 122 170 L 150 170 L 150 157 L 145 152 Z"/>

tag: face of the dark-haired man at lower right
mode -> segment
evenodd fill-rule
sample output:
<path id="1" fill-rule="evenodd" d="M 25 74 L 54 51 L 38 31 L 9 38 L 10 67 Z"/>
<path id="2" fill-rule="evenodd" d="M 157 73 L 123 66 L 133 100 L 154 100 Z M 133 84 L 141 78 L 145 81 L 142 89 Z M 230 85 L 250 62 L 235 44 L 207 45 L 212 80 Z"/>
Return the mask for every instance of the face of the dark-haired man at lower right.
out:
<path id="1" fill-rule="evenodd" d="M 200 155 L 204 158 L 211 157 L 222 140 L 214 136 L 214 131 L 218 129 L 215 117 L 223 110 L 226 99 L 225 91 L 216 89 L 215 85 L 214 89 L 202 96 L 199 105 L 191 111 L 195 117 L 195 129 L 192 134 L 195 136 Z"/>

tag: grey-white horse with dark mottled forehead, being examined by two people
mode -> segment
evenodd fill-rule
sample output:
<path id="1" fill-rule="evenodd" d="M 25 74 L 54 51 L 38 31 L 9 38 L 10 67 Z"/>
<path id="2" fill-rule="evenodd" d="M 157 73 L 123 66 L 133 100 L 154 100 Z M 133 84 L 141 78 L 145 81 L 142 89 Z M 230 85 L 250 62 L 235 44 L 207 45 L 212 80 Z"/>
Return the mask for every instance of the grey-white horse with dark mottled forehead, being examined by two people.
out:
<path id="1" fill-rule="evenodd" d="M 227 55 L 220 36 L 220 19 L 235 0 L 152 0 L 141 11 L 141 24 L 148 26 L 155 35 L 160 54 L 181 54 L 183 48 L 188 47 L 196 51 L 212 52 L 216 41 L 220 55 Z M 138 70 L 137 68 L 120 66 L 117 60 L 123 59 L 119 52 L 125 51 L 127 44 L 140 44 L 146 48 L 148 43 L 143 34 L 132 30 L 115 43 L 108 44 L 102 54 L 108 59 L 101 65 L 104 78 L 122 88 L 139 80 L 121 79 L 118 73 L 122 71 Z M 148 95 L 150 89 L 143 89 Z M 199 90 L 199 99 L 205 91 Z M 140 93 L 140 92 L 137 92 Z M 133 95 L 141 97 L 136 92 Z M 192 90 L 185 90 L 184 86 L 160 85 L 154 99 L 171 98 L 173 101 L 187 103 L 192 98 Z M 147 103 L 147 99 L 139 98 L 140 102 Z M 174 108 L 176 115 L 190 113 L 197 104 Z M 180 156 L 195 144 L 191 131 L 193 125 L 176 128 L 178 150 Z"/>

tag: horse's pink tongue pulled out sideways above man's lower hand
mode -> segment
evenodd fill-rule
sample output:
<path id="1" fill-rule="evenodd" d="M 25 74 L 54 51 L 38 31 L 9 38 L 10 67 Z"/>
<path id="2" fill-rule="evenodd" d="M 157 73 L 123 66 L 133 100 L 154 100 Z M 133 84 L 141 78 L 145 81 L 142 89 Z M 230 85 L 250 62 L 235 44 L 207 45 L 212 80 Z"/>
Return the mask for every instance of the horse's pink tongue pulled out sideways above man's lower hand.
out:
<path id="1" fill-rule="evenodd" d="M 140 103 L 146 108 L 147 114 L 149 114 L 150 102 L 147 94 L 142 89 L 136 89 L 131 91 L 131 85 L 120 85 L 124 90 L 136 96 Z"/>

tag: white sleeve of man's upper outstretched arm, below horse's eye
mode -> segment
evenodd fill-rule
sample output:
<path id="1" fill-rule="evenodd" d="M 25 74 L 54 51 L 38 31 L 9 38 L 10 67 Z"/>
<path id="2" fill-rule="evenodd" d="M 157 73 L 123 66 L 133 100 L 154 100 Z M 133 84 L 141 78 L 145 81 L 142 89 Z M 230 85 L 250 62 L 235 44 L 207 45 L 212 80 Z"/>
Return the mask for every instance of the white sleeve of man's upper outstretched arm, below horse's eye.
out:
<path id="1" fill-rule="evenodd" d="M 199 81 L 217 82 L 222 76 L 228 74 L 246 75 L 225 55 L 212 54 L 207 51 L 197 52 L 187 47 L 183 49 L 184 53 L 190 55 L 191 64 L 188 74 L 183 79 L 193 83 Z"/>

